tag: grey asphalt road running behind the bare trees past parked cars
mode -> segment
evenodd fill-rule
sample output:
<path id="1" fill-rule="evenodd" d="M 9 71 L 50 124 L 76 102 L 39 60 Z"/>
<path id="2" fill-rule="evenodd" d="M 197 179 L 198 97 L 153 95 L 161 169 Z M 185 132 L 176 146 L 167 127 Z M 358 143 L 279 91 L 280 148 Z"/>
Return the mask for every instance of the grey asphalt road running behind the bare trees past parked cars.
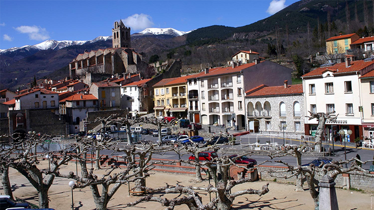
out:
<path id="1" fill-rule="evenodd" d="M 158 137 L 153 137 L 152 135 L 142 135 L 141 138 L 145 139 L 146 141 L 151 141 L 151 140 L 152 141 L 157 141 L 157 139 L 158 139 Z M 242 145 L 240 145 L 240 140 L 241 140 Z M 274 141 L 274 142 L 277 142 L 278 144 L 283 144 L 283 141 L 284 141 L 283 138 L 271 138 L 271 139 L 269 139 L 269 137 L 267 137 L 266 135 L 259 136 L 259 135 L 255 135 L 255 134 L 250 134 L 250 135 L 247 135 L 247 136 L 242 137 L 242 138 L 238 137 L 237 138 L 237 144 L 234 145 L 234 147 L 239 149 L 240 146 L 241 146 L 243 149 L 246 149 L 246 147 L 248 147 L 248 143 L 254 143 L 256 140 L 260 140 L 261 143 L 266 143 L 266 141 L 271 141 L 271 142 Z M 291 143 L 291 144 L 301 144 L 302 143 L 300 141 L 292 140 L 292 139 L 285 139 L 285 142 L 286 143 Z M 124 142 L 124 143 L 121 143 L 121 144 L 126 145 L 127 143 Z M 222 146 L 222 147 L 232 148 L 232 145 L 228 145 L 228 146 L 225 145 L 225 146 Z M 330 145 L 330 148 L 332 150 L 332 145 Z M 334 152 L 335 152 L 335 156 L 329 156 L 328 158 L 332 158 L 332 159 L 335 159 L 335 160 L 344 160 L 344 144 L 342 144 L 342 145 L 340 145 L 340 143 L 335 144 L 334 145 Z M 110 155 L 111 151 L 102 151 L 102 154 L 103 155 Z M 356 157 L 356 155 L 360 155 L 361 160 L 372 160 L 373 155 L 374 155 L 374 150 L 373 149 L 355 148 L 353 146 L 346 146 L 346 154 L 347 154 L 347 159 Z M 113 155 L 124 155 L 124 154 L 123 153 L 116 153 L 116 154 L 113 154 Z M 184 154 L 183 156 L 181 156 L 181 159 L 182 160 L 188 160 L 188 157 L 190 155 L 192 155 L 192 154 Z M 222 155 L 233 155 L 233 154 L 222 154 L 222 152 L 218 151 L 218 155 L 222 156 Z M 178 160 L 179 157 L 174 152 L 167 152 L 167 153 L 163 153 L 163 154 L 154 154 L 153 158 Z M 283 166 L 283 164 L 276 163 L 274 160 L 282 160 L 282 161 L 284 161 L 286 163 L 289 163 L 289 164 L 292 164 L 292 165 L 297 164 L 296 158 L 289 157 L 289 156 L 285 156 L 285 157 L 281 157 L 281 158 L 274 158 L 273 160 L 268 156 L 260 156 L 260 155 L 253 155 L 250 158 L 255 159 L 257 161 L 257 163 L 262 163 L 264 161 L 270 161 L 270 162 L 267 162 L 265 165 Z M 302 157 L 302 164 L 309 163 L 312 160 L 314 160 L 315 158 L 316 157 Z M 366 165 L 363 165 L 363 168 L 364 169 L 369 169 L 371 164 L 372 164 L 371 162 L 367 163 Z"/>

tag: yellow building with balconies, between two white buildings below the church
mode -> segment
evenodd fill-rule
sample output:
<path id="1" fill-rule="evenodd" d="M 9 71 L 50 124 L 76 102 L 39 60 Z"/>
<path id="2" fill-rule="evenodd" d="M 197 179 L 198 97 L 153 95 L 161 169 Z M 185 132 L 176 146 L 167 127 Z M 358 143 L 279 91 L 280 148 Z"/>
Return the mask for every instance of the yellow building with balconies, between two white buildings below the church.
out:
<path id="1" fill-rule="evenodd" d="M 187 79 L 193 75 L 163 79 L 153 85 L 156 117 L 187 118 Z"/>

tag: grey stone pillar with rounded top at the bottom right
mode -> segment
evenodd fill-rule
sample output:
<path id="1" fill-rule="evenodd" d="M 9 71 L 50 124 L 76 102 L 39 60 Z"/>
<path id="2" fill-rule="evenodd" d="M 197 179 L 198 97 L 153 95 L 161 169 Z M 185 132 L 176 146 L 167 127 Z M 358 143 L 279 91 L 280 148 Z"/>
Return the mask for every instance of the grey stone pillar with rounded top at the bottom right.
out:
<path id="1" fill-rule="evenodd" d="M 338 210 L 338 200 L 335 191 L 334 179 L 328 175 L 321 178 L 320 183 L 320 204 L 319 208 L 322 210 Z"/>

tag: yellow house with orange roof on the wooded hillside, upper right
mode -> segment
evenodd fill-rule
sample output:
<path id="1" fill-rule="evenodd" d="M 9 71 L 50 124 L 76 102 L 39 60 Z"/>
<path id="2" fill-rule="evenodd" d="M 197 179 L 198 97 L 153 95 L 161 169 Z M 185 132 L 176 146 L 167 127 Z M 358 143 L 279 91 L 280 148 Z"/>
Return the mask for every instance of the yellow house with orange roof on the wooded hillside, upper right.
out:
<path id="1" fill-rule="evenodd" d="M 344 53 L 346 50 L 351 49 L 351 43 L 357 41 L 360 37 L 357 34 L 339 35 L 330 37 L 326 40 L 327 54 Z"/>

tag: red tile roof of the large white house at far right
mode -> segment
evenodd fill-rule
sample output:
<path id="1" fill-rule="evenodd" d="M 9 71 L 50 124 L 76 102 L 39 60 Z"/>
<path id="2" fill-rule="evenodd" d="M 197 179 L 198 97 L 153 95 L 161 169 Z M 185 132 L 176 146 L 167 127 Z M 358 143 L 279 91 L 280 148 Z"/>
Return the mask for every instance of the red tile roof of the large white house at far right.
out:
<path id="1" fill-rule="evenodd" d="M 335 64 L 334 66 L 315 69 L 309 73 L 304 74 L 302 77 L 318 76 L 318 75 L 322 75 L 326 71 L 334 72 L 334 74 L 357 72 L 373 64 L 374 64 L 374 61 L 364 62 L 363 60 L 360 60 L 360 61 L 351 62 L 351 66 L 346 67 L 346 63 L 338 63 L 338 64 Z"/>

